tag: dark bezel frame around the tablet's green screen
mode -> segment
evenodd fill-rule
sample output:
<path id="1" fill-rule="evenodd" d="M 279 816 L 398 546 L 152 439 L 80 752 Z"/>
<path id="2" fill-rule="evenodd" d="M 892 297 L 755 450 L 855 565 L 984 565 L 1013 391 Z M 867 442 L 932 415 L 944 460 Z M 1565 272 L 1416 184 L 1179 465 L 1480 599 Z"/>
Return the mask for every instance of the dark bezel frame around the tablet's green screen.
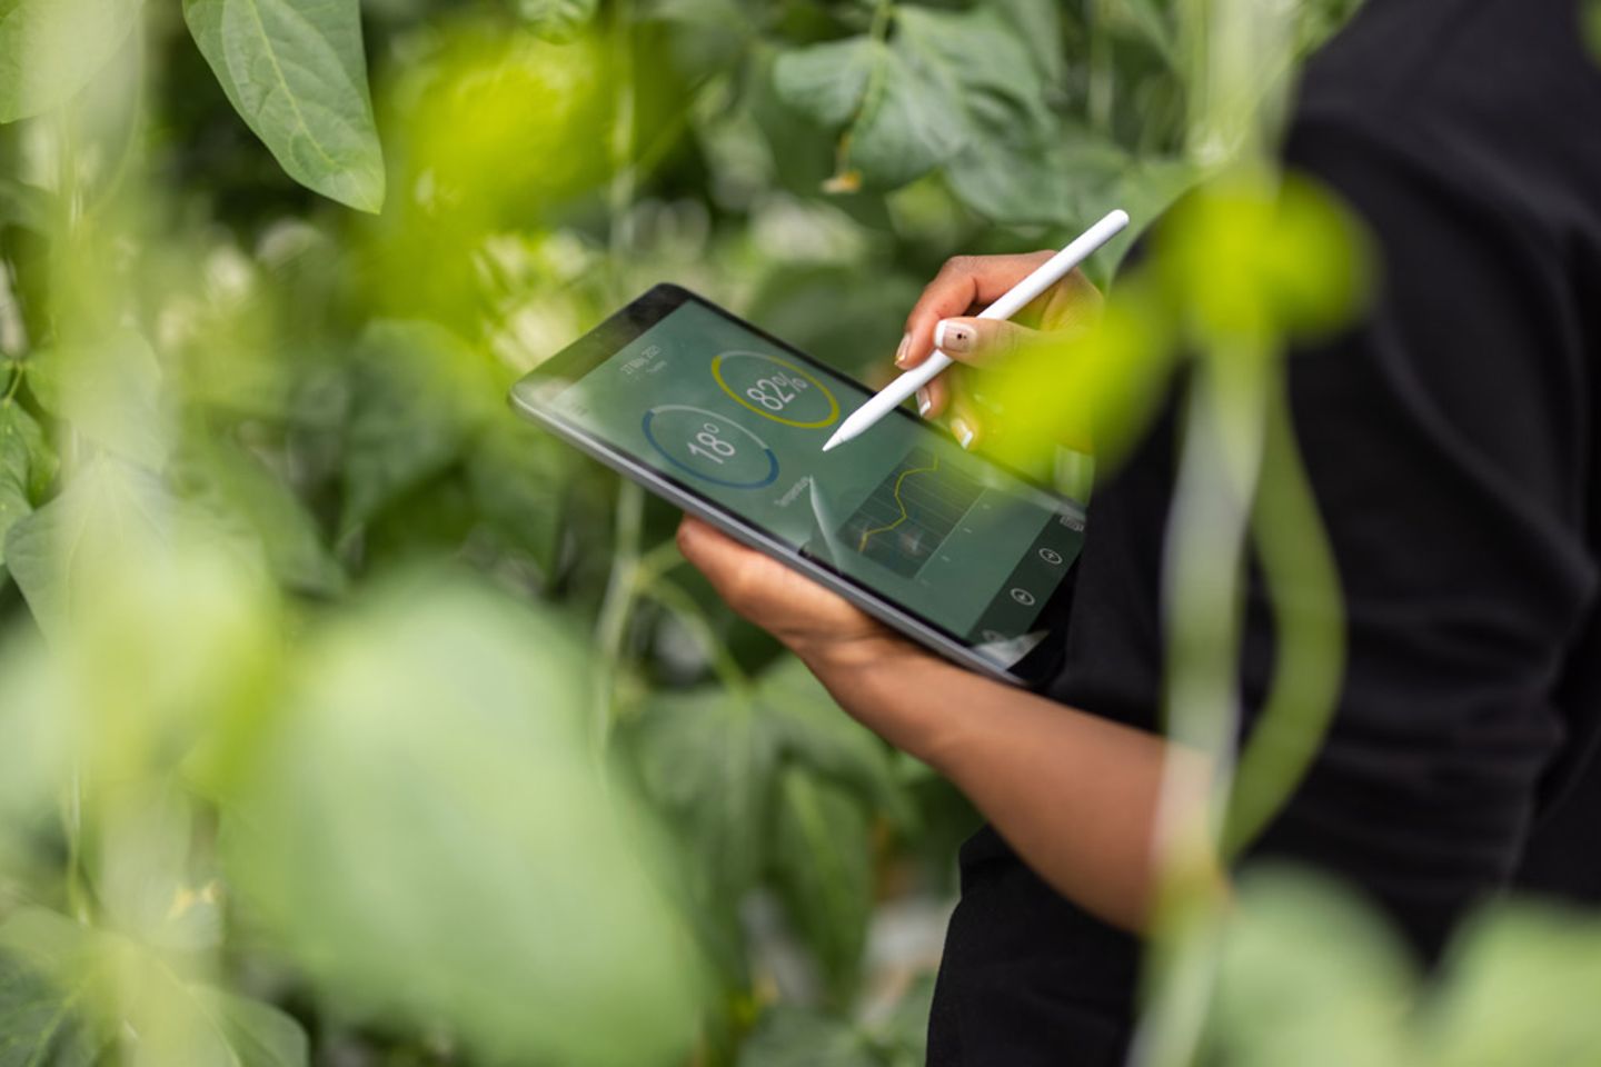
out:
<path id="1" fill-rule="evenodd" d="M 760 326 L 756 326 L 744 318 L 740 318 L 733 312 L 719 307 L 712 301 L 692 293 L 679 285 L 661 283 L 640 294 L 637 299 L 629 302 L 626 307 L 618 310 L 615 315 L 602 322 L 599 326 L 586 333 L 584 336 L 573 341 L 570 346 L 552 355 L 549 360 L 541 363 L 538 368 L 530 371 L 520 381 L 517 381 L 511 389 L 511 403 L 525 418 L 538 422 L 540 426 L 552 430 L 568 443 L 575 445 L 581 451 L 588 453 L 602 464 L 612 467 L 618 474 L 644 485 L 652 493 L 664 498 L 671 504 L 682 507 L 685 512 L 701 518 L 717 530 L 722 530 L 733 539 L 746 544 L 764 555 L 770 555 L 788 566 L 807 574 L 821 585 L 834 590 L 836 593 L 845 597 L 853 605 L 879 619 L 881 622 L 893 627 L 900 633 L 919 641 L 921 645 L 940 653 L 941 656 L 970 667 L 980 673 L 985 673 L 999 681 L 1020 686 L 1039 686 L 1050 681 L 1055 677 L 1055 669 L 1061 657 L 1061 643 L 1042 640 L 1029 653 L 1026 653 L 1020 661 L 1017 661 L 1010 669 L 1001 667 L 999 664 L 986 659 L 975 651 L 972 645 L 962 640 L 959 635 L 946 630 L 938 622 L 925 619 L 924 616 L 903 608 L 900 603 L 887 598 L 879 590 L 850 577 L 842 571 L 836 571 L 826 563 L 815 560 L 797 545 L 791 545 L 788 541 L 778 537 L 772 531 L 765 530 L 756 522 L 725 509 L 717 501 L 703 496 L 693 485 L 680 482 L 671 474 L 656 470 L 642 458 L 632 456 L 621 448 L 613 446 L 610 442 L 596 437 L 586 427 L 576 426 L 564 419 L 554 408 L 556 395 L 564 392 L 572 384 L 578 382 L 584 374 L 602 365 L 605 360 L 616 355 L 624 346 L 637 339 L 647 330 L 660 323 L 669 314 L 677 310 L 687 302 L 695 302 L 706 310 L 720 315 L 743 330 L 749 330 L 756 336 L 762 338 L 768 344 L 778 346 L 784 354 L 802 360 L 809 366 L 821 370 L 836 378 L 842 378 L 850 384 L 871 394 L 873 390 L 858 382 L 857 379 L 844 374 L 834 366 L 828 366 L 805 352 L 796 349 L 792 344 L 775 338 Z M 890 411 L 885 418 L 901 418 L 909 419 L 927 432 L 937 432 L 921 418 L 914 416 L 905 408 L 897 408 Z M 1001 470 L 1005 470 L 1010 477 L 1045 493 L 1047 496 L 1061 501 L 1068 512 L 1079 512 L 1082 518 L 1082 507 L 1074 501 L 1053 493 L 1049 488 L 1041 486 L 1026 475 L 1001 464 L 988 456 L 977 456 L 983 462 L 988 462 Z M 1068 568 L 1068 573 L 1061 576 L 1061 581 L 1047 597 L 1045 605 L 1041 608 L 1036 619 L 1049 627 L 1050 633 L 1060 632 L 1066 621 L 1066 606 L 1069 603 L 1069 590 L 1074 584 L 1074 571 L 1077 566 L 1077 558 Z"/>

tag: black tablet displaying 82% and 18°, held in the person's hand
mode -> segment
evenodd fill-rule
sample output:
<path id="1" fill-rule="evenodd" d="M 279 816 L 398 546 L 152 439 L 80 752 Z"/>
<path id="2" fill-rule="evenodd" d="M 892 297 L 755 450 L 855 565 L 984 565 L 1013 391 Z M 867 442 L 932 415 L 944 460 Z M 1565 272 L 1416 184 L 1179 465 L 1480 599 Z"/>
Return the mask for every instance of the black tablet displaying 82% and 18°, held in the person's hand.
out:
<path id="1" fill-rule="evenodd" d="M 1084 509 L 906 410 L 823 453 L 869 395 L 658 285 L 519 381 L 511 400 L 927 648 L 1005 681 L 1049 680 Z"/>

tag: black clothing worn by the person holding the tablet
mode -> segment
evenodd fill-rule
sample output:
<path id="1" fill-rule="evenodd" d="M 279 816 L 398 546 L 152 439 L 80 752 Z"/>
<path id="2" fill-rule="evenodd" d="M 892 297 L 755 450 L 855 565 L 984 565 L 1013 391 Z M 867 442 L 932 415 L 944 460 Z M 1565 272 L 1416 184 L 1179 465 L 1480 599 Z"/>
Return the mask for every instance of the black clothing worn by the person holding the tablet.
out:
<path id="1" fill-rule="evenodd" d="M 1601 901 L 1601 69 L 1571 0 L 1370 0 L 1308 66 L 1286 165 L 1367 222 L 1359 328 L 1289 355 L 1346 601 L 1308 777 L 1254 856 L 1380 902 L 1426 958 L 1524 885 Z M 1097 486 L 1052 696 L 1154 728 L 1172 414 Z M 1244 720 L 1273 627 L 1252 579 Z M 962 849 L 935 1067 L 1121 1062 L 1138 942 L 991 830 Z"/>

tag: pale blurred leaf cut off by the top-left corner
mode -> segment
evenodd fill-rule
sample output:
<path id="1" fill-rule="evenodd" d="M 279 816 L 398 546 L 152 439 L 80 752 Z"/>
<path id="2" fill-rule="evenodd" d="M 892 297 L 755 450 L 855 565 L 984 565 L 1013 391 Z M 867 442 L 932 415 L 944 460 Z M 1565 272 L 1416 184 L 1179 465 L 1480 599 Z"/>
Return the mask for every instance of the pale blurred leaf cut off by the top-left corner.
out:
<path id="1" fill-rule="evenodd" d="M 74 98 L 138 21 L 141 0 L 0 0 L 0 123 Z"/>

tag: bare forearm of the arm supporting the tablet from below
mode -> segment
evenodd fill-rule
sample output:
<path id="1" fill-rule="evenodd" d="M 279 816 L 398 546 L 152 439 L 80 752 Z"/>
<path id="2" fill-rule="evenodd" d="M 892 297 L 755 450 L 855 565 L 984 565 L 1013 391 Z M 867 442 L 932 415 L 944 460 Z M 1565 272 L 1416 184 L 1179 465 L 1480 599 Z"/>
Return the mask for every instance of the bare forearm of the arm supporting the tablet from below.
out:
<path id="1" fill-rule="evenodd" d="M 842 707 L 949 777 L 1061 894 L 1145 928 L 1164 765 L 1199 755 L 922 654 L 802 656 Z"/>

